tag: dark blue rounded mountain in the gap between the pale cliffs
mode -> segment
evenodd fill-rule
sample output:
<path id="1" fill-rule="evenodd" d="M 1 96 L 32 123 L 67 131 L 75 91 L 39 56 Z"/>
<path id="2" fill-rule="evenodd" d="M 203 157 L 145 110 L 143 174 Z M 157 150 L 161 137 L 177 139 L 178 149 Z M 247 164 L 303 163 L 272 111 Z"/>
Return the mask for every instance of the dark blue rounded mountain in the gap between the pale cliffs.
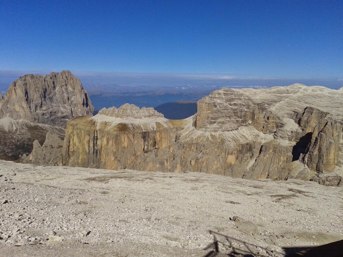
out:
<path id="1" fill-rule="evenodd" d="M 197 112 L 197 102 L 184 100 L 167 102 L 154 109 L 161 112 L 167 119 L 181 120 L 186 119 Z"/>

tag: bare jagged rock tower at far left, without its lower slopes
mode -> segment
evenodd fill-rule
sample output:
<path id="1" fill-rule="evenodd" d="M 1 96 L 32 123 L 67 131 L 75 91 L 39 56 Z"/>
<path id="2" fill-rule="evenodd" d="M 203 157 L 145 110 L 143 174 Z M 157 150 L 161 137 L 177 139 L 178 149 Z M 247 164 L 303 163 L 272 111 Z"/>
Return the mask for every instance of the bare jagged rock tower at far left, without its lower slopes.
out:
<path id="1" fill-rule="evenodd" d="M 1 100 L 0 117 L 65 127 L 68 120 L 93 111 L 80 79 L 61 71 L 28 74 L 13 82 Z"/>

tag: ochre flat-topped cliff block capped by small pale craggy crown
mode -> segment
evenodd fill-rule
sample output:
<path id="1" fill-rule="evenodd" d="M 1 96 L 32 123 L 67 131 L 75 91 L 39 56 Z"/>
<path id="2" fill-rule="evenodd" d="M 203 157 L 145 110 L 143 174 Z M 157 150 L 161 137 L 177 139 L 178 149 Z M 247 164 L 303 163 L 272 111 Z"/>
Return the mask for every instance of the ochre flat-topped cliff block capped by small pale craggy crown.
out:
<path id="1" fill-rule="evenodd" d="M 61 164 L 169 171 L 176 130 L 153 108 L 123 105 L 68 122 Z"/>

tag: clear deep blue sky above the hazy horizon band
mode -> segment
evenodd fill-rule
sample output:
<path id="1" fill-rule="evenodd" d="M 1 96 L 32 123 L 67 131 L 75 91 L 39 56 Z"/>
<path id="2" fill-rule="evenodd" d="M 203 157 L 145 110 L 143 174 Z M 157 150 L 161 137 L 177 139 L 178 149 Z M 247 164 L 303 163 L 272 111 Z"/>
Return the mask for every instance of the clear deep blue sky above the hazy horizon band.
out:
<path id="1" fill-rule="evenodd" d="M 343 1 L 2 1 L 0 70 L 343 77 Z"/>

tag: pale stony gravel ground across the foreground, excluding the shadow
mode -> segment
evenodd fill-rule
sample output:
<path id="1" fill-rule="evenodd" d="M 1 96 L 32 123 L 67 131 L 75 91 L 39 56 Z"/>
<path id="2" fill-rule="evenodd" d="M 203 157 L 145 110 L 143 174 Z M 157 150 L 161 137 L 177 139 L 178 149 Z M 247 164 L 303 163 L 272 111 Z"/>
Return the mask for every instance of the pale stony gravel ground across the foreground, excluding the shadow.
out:
<path id="1" fill-rule="evenodd" d="M 343 188 L 315 182 L 9 161 L 0 176 L 0 256 L 204 256 L 215 239 L 217 256 L 284 256 L 343 239 Z"/>

